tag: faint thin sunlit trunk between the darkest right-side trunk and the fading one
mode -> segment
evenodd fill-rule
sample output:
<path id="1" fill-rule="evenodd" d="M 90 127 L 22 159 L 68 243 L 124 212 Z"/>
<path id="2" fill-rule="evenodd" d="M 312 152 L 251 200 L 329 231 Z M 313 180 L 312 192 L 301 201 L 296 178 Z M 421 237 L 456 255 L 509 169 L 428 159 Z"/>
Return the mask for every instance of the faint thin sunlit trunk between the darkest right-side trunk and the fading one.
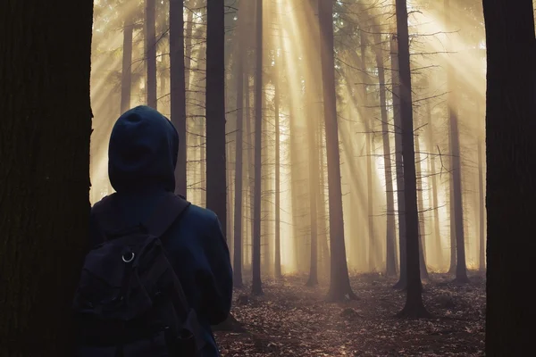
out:
<path id="1" fill-rule="evenodd" d="M 426 102 L 426 116 L 428 118 L 428 151 L 430 154 L 430 175 L 431 175 L 431 209 L 433 210 L 433 236 L 435 245 L 435 260 L 438 267 L 443 266 L 443 251 L 441 249 L 441 234 L 440 234 L 440 209 L 438 200 L 438 187 L 435 169 L 435 154 L 433 154 L 433 148 L 435 146 L 433 138 L 433 125 L 431 123 L 431 109 L 430 101 Z"/>

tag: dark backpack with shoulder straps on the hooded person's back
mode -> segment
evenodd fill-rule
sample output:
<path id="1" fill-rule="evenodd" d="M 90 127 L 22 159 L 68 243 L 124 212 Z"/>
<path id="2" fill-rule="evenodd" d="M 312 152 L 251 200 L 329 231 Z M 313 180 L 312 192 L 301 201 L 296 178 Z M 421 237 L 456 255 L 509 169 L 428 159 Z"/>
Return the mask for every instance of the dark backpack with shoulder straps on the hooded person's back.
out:
<path id="1" fill-rule="evenodd" d="M 113 195 L 96 204 L 105 242 L 86 255 L 73 308 L 80 357 L 200 355 L 196 311 L 163 249 L 190 203 L 165 195 L 148 220 L 125 227 Z"/>

